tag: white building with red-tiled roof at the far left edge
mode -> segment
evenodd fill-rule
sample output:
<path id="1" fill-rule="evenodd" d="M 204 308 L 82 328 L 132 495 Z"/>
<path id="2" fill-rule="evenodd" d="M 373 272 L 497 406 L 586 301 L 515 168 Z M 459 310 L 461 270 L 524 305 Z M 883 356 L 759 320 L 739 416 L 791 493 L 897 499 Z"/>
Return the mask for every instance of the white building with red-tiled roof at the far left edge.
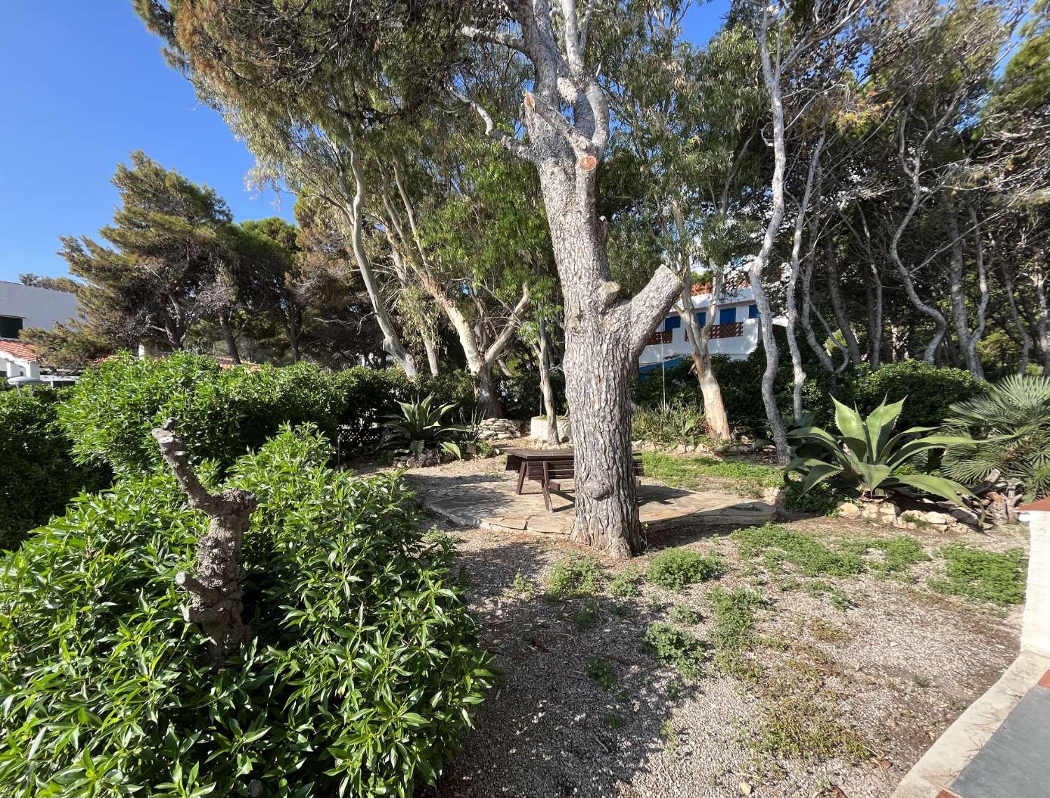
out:
<path id="1" fill-rule="evenodd" d="M 29 327 L 52 329 L 77 316 L 77 297 L 68 292 L 0 280 L 0 379 L 69 382 L 67 376 L 41 373 L 36 352 L 18 340 L 18 333 Z"/>

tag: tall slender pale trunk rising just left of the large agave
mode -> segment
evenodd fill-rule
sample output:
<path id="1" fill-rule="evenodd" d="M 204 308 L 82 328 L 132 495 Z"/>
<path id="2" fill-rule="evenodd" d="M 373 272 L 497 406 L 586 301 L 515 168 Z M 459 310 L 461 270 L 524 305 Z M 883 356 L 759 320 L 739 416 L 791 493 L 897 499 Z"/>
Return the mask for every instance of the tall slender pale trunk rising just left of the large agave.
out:
<path id="1" fill-rule="evenodd" d="M 773 310 L 770 307 L 770 299 L 765 294 L 765 287 L 762 285 L 762 271 L 769 262 L 777 232 L 780 230 L 780 222 L 783 221 L 784 217 L 784 168 L 788 160 L 784 144 L 784 109 L 780 88 L 780 65 L 778 63 L 774 69 L 770 57 L 770 38 L 768 34 L 771 21 L 771 9 L 763 8 L 762 22 L 758 31 L 758 49 L 762 62 L 762 80 L 770 94 L 770 107 L 773 111 L 773 177 L 770 182 L 773 207 L 770 212 L 769 222 L 765 225 L 761 249 L 751 259 L 751 263 L 748 266 L 748 277 L 751 281 L 751 292 L 755 298 L 755 305 L 758 307 L 758 318 L 762 328 L 762 348 L 765 350 L 765 370 L 762 372 L 761 386 L 762 404 L 765 406 L 765 420 L 770 425 L 773 443 L 777 448 L 777 459 L 781 462 L 786 462 L 790 457 L 788 431 L 784 429 L 783 420 L 780 418 L 780 410 L 777 407 L 774 387 L 777 379 L 777 367 L 780 365 L 780 353 L 777 350 L 777 341 L 773 335 Z"/>

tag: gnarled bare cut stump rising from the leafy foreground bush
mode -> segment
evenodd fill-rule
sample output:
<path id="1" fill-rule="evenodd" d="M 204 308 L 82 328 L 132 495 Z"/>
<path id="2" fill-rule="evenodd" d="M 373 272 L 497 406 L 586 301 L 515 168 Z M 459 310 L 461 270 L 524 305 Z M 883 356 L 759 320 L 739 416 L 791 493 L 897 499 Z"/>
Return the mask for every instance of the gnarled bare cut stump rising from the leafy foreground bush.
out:
<path id="1" fill-rule="evenodd" d="M 252 633 L 243 618 L 240 541 L 256 500 L 254 494 L 239 488 L 229 488 L 217 495 L 208 493 L 190 468 L 183 441 L 173 430 L 174 422 L 169 418 L 152 434 L 189 505 L 209 518 L 208 534 L 201 538 L 195 573 L 180 573 L 175 583 L 190 595 L 187 620 L 205 630 L 211 641 L 212 661 L 220 664 Z"/>

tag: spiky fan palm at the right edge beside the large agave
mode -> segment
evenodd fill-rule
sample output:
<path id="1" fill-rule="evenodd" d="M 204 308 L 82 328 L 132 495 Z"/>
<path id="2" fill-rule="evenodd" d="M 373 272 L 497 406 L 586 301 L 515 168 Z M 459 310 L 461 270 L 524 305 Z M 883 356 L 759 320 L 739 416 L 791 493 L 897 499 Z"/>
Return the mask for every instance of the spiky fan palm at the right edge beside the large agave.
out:
<path id="1" fill-rule="evenodd" d="M 1003 484 L 1027 501 L 1050 494 L 1050 376 L 1007 376 L 951 405 L 944 424 L 975 438 L 945 452 L 952 479 Z"/>

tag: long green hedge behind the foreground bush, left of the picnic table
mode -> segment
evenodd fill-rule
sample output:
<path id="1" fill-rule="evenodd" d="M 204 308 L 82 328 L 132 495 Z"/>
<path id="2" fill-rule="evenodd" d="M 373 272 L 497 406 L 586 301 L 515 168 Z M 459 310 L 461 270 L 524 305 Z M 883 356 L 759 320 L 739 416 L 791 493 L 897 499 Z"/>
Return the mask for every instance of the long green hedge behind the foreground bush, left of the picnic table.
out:
<path id="1" fill-rule="evenodd" d="M 281 424 L 315 424 L 330 439 L 371 443 L 378 420 L 399 412 L 398 400 L 434 392 L 443 403 L 472 406 L 461 374 L 410 383 L 403 372 L 352 368 L 330 372 L 313 364 L 222 369 L 213 358 L 128 352 L 89 369 L 70 390 L 60 420 L 80 462 L 105 463 L 121 474 L 160 461 L 150 429 L 176 419 L 190 459 L 226 468 L 260 446 Z"/>

